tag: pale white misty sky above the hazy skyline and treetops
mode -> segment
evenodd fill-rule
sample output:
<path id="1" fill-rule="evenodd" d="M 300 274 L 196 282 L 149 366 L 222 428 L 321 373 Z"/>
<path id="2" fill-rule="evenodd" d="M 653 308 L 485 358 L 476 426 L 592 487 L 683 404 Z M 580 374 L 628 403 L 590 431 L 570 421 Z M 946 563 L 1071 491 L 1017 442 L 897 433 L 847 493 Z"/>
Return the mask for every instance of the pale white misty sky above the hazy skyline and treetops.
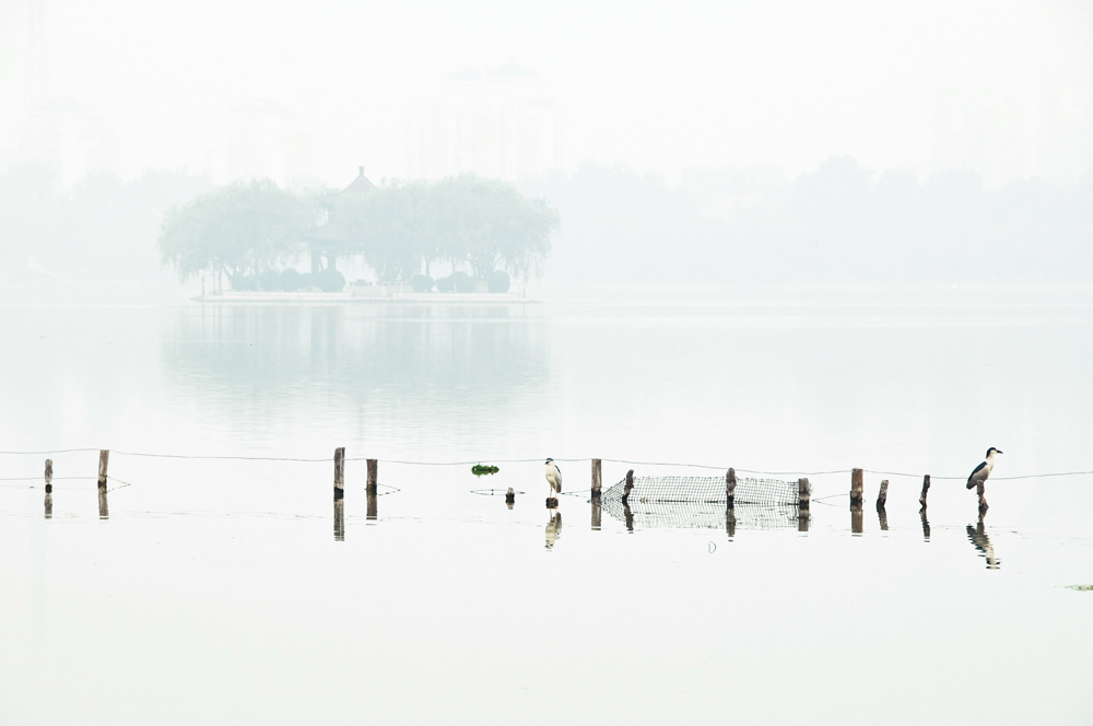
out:
<path id="1" fill-rule="evenodd" d="M 27 4 L 0 0 L 0 161 L 19 143 Z M 409 101 L 450 73 L 510 61 L 560 105 L 571 169 L 590 160 L 669 178 L 690 166 L 795 175 L 849 154 L 928 173 L 966 162 L 971 127 L 992 141 L 987 176 L 1050 176 L 1043 159 L 1091 137 L 1090 3 L 45 7 L 52 95 L 102 115 L 124 174 L 202 171 L 224 115 L 268 98 L 297 116 L 315 177 L 340 184 L 357 164 L 400 176 Z M 953 136 L 939 104 L 956 104 L 963 131 Z"/>

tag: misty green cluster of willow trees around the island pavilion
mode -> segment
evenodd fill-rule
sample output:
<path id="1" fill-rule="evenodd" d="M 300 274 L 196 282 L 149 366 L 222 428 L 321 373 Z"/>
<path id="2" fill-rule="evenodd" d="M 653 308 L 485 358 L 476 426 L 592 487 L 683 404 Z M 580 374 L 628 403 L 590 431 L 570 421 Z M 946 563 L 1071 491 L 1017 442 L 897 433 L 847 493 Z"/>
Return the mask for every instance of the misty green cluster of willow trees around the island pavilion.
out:
<path id="1" fill-rule="evenodd" d="M 236 290 L 340 290 L 345 279 L 333 260 L 356 256 L 380 282 L 503 292 L 510 277 L 541 272 L 559 225 L 545 199 L 469 174 L 379 187 L 364 180 L 319 195 L 263 179 L 231 184 L 172 209 L 160 253 L 184 281 L 223 273 Z M 308 250 L 326 256 L 325 269 L 296 270 Z M 451 273 L 434 281 L 438 265 Z"/>

